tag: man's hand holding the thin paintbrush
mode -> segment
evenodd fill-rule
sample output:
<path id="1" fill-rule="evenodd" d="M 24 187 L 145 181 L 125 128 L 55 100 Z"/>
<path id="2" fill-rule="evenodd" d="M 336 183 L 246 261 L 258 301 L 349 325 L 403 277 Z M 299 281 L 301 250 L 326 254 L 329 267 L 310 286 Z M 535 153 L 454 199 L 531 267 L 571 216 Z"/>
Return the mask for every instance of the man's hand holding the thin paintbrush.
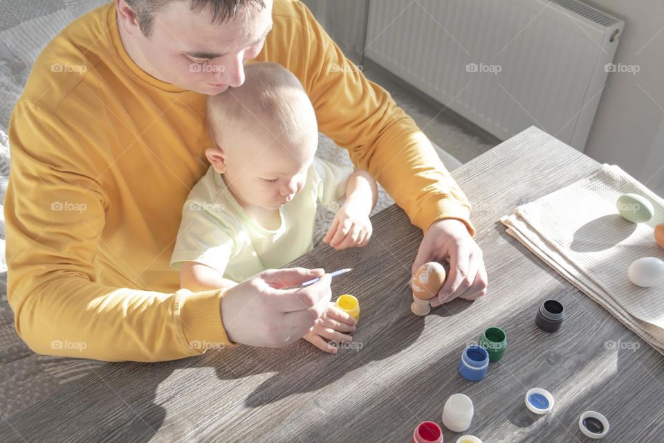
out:
<path id="1" fill-rule="evenodd" d="M 320 277 L 307 287 L 299 284 Z M 313 329 L 332 291 L 323 269 L 268 269 L 244 280 L 221 298 L 221 320 L 230 341 L 285 346 Z"/>

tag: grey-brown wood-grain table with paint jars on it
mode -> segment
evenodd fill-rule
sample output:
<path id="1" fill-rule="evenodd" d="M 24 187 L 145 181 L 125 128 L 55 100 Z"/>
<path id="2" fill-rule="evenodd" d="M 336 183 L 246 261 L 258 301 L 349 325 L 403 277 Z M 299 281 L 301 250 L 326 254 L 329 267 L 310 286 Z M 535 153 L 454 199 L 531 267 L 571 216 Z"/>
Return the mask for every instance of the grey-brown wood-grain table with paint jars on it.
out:
<path id="1" fill-rule="evenodd" d="M 589 442 L 577 423 L 584 410 L 609 419 L 604 442 L 663 442 L 664 357 L 498 221 L 597 167 L 531 127 L 454 171 L 474 202 L 490 282 L 482 300 L 457 300 L 425 318 L 411 313 L 407 282 L 422 234 L 393 206 L 374 217 L 366 248 L 323 246 L 294 263 L 356 268 L 332 284 L 335 296 L 360 300 L 355 349 L 333 356 L 300 341 L 108 364 L 0 422 L 0 441 L 409 442 L 419 422 L 440 424 L 445 400 L 463 392 L 475 406 L 468 433 L 485 443 Z M 565 306 L 555 334 L 534 323 L 546 298 Z M 492 325 L 508 335 L 505 357 L 483 381 L 465 381 L 457 372 L 461 352 Z M 611 350 L 607 341 L 640 347 Z M 524 406 L 535 386 L 555 397 L 549 415 Z M 458 436 L 445 431 L 445 442 Z"/>

